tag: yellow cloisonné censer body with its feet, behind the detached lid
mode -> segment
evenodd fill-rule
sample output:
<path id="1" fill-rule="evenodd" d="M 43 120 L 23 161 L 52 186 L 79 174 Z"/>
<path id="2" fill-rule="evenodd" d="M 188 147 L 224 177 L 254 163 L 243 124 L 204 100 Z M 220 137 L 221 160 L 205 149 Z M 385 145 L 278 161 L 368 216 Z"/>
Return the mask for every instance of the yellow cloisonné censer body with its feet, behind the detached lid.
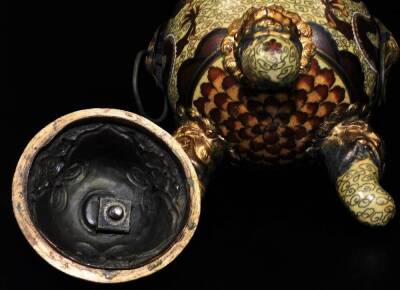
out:
<path id="1" fill-rule="evenodd" d="M 368 123 L 399 52 L 361 1 L 192 0 L 158 30 L 147 68 L 203 184 L 225 152 L 261 168 L 320 159 L 350 212 L 383 226 L 395 204 L 379 185 L 382 142 Z M 206 147 L 209 165 L 193 154 L 210 142 L 203 131 L 193 138 L 200 124 L 221 144 Z"/>

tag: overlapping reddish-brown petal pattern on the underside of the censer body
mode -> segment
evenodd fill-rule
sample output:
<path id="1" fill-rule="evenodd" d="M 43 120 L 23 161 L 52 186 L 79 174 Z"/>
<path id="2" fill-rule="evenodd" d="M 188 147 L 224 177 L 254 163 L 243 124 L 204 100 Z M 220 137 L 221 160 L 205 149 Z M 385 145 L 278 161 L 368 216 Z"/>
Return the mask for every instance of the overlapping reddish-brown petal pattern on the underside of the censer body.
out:
<path id="1" fill-rule="evenodd" d="M 349 105 L 343 82 L 322 59 L 313 59 L 293 91 L 276 94 L 245 91 L 219 62 L 201 79 L 194 106 L 212 121 L 237 159 L 268 165 L 299 159 L 324 120 Z"/>

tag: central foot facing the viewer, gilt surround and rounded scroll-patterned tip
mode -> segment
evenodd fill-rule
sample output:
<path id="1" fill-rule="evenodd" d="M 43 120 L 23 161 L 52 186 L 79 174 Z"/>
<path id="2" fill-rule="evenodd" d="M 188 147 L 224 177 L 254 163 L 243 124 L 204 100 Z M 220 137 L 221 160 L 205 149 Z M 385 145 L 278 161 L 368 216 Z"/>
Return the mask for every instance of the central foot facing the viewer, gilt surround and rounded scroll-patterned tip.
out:
<path id="1" fill-rule="evenodd" d="M 221 44 L 227 72 L 261 90 L 290 87 L 315 55 L 311 26 L 296 13 L 271 5 L 250 8 L 228 28 Z"/>

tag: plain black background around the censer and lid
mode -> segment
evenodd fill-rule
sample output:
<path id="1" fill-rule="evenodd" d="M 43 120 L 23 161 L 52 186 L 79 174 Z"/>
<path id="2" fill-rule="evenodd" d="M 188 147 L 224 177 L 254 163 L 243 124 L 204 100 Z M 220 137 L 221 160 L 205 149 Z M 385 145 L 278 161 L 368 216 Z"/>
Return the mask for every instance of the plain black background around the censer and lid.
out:
<path id="1" fill-rule="evenodd" d="M 394 1 L 365 1 L 400 39 Z M 23 238 L 12 214 L 11 180 L 28 141 L 66 113 L 91 107 L 134 110 L 131 71 L 174 1 L 12 1 L 6 27 L 8 71 L 1 97 L 0 289 L 110 289 L 49 266 Z M 3 79 L 4 80 L 4 79 Z M 384 187 L 400 205 L 398 87 L 373 125 L 387 143 Z M 160 95 L 145 84 L 155 113 Z M 171 128 L 171 122 L 164 126 Z M 195 237 L 167 268 L 112 289 L 399 289 L 400 215 L 386 228 L 358 224 L 323 167 L 284 172 L 224 166 L 202 207 Z"/>

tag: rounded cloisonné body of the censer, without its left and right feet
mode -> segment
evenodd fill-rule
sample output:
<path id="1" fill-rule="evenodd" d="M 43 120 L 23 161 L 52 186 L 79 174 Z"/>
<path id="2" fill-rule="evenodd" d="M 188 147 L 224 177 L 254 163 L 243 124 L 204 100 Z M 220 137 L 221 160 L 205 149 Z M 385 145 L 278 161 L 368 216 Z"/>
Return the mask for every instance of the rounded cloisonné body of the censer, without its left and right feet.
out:
<path id="1" fill-rule="evenodd" d="M 229 37 L 245 34 L 245 25 L 247 32 L 253 25 L 251 33 L 258 35 L 268 21 L 283 30 L 294 26 L 298 59 L 293 52 L 297 44 L 289 43 L 292 36 L 288 42 L 272 34 L 245 48 L 239 40 L 228 41 L 224 48 Z M 361 117 L 369 111 L 377 98 L 380 30 L 356 0 L 181 1 L 164 27 L 166 61 L 160 82 L 172 108 L 183 119 L 196 116 L 210 121 L 235 158 L 290 163 L 305 155 L 317 135 L 324 135 L 321 128 L 329 131 L 349 115 Z M 251 33 L 241 39 L 258 37 Z M 308 58 L 307 42 L 314 49 Z M 250 79 L 264 75 L 287 79 L 303 62 L 307 65 L 288 86 L 255 89 L 236 77 L 249 68 Z"/>

